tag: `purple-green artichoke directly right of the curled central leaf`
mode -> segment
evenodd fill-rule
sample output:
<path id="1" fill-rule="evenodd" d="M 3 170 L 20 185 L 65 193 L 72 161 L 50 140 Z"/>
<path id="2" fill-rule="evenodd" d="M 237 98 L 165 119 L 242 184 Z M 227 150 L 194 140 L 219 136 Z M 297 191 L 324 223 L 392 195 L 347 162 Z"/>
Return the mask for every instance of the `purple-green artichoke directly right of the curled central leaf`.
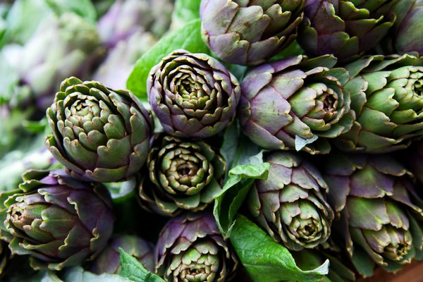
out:
<path id="1" fill-rule="evenodd" d="M 317 168 L 290 152 L 269 153 L 264 161 L 270 163 L 269 178 L 255 180 L 248 197 L 259 226 L 290 250 L 325 243 L 334 216 Z"/>

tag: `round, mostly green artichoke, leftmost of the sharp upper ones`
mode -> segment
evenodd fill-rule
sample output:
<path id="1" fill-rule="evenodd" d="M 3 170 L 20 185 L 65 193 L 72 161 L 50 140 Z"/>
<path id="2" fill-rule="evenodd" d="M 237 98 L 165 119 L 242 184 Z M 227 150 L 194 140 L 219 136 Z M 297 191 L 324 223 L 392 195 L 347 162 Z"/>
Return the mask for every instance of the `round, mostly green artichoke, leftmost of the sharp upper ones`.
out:
<path id="1" fill-rule="evenodd" d="M 145 164 L 152 118 L 128 90 L 68 78 L 47 118 L 53 134 L 46 145 L 75 178 L 118 182 Z"/>

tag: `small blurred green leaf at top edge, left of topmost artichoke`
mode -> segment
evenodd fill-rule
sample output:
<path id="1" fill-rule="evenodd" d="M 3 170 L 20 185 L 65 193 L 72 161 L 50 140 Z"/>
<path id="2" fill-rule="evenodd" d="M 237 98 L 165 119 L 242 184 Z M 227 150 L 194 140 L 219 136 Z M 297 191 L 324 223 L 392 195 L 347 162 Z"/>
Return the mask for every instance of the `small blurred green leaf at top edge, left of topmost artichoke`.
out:
<path id="1" fill-rule="evenodd" d="M 201 0 L 176 0 L 172 13 L 172 28 L 183 27 L 191 20 L 200 18 Z"/>

